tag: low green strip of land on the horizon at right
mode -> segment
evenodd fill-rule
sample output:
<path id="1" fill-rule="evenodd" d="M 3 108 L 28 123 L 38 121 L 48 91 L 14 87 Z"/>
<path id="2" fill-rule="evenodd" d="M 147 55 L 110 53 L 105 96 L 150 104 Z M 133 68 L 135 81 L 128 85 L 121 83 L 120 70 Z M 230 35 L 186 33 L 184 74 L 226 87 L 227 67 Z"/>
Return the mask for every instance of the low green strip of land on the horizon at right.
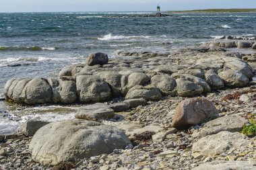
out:
<path id="1" fill-rule="evenodd" d="M 195 9 L 187 11 L 165 11 L 165 13 L 245 13 L 256 12 L 256 9 Z"/>

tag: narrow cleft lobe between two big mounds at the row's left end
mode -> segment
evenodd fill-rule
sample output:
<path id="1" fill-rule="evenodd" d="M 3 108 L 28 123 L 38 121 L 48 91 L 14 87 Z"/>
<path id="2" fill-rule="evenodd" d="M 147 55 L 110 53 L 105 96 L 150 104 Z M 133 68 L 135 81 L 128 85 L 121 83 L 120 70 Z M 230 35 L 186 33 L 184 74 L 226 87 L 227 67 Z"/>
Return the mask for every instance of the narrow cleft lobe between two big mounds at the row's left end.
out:
<path id="1" fill-rule="evenodd" d="M 77 100 L 75 81 L 48 79 L 53 89 L 54 103 L 74 103 Z"/>

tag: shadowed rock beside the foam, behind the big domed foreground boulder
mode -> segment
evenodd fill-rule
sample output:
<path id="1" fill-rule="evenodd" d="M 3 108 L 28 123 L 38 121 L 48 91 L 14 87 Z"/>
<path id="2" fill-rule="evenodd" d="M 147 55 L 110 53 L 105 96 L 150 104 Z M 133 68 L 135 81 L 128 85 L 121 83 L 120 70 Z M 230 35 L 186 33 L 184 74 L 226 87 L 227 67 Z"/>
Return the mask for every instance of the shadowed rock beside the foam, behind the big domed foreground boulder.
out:
<path id="1" fill-rule="evenodd" d="M 50 122 L 42 121 L 39 118 L 34 118 L 32 120 L 24 122 L 20 128 L 20 131 L 25 136 L 33 136 L 38 129 L 42 128 L 42 126 L 45 126 L 49 123 Z"/>

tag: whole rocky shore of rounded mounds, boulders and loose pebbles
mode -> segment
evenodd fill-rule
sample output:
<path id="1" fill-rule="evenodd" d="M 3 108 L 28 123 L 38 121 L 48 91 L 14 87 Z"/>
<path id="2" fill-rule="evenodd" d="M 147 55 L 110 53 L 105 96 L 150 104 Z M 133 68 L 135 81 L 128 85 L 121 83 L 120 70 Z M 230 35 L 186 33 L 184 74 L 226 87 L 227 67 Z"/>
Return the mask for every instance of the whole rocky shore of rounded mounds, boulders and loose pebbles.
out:
<path id="1" fill-rule="evenodd" d="M 235 41 L 232 48 L 255 44 Z M 256 65 L 248 59 L 255 54 L 221 43 L 120 58 L 96 53 L 57 79 L 8 81 L 7 101 L 95 104 L 75 120 L 30 120 L 19 134 L 0 136 L 1 168 L 256 169 L 256 138 L 241 133 L 256 114 Z"/>

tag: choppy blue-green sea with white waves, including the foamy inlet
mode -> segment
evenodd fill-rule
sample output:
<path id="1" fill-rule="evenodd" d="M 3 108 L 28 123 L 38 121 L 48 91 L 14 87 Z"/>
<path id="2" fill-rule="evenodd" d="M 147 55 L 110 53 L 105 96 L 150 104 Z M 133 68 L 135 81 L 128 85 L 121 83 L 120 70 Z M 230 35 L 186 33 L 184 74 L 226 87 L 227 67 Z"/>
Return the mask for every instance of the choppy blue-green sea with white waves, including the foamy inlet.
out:
<path id="1" fill-rule="evenodd" d="M 0 13 L 0 96 L 8 79 L 56 77 L 65 65 L 85 62 L 91 52 L 115 57 L 120 50 L 166 52 L 220 36 L 256 36 L 256 13 L 113 17 L 146 13 L 151 12 Z M 0 101 L 0 134 L 30 118 L 63 120 L 74 114 L 75 106 Z"/>

